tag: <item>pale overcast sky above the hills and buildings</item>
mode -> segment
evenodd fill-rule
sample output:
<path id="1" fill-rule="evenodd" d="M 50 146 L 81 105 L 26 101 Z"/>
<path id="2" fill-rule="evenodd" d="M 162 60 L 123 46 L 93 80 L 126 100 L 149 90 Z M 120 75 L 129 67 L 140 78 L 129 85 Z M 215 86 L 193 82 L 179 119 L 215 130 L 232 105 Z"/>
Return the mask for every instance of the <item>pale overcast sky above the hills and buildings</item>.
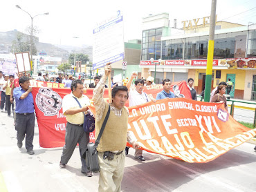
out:
<path id="1" fill-rule="evenodd" d="M 29 12 L 32 17 L 50 13 L 47 16 L 35 17 L 33 21 L 33 25 L 39 29 L 37 37 L 40 42 L 81 46 L 92 45 L 92 31 L 96 23 L 115 15 L 117 10 L 124 16 L 124 34 L 127 41 L 141 39 L 142 18 L 149 14 L 168 12 L 170 26 L 177 19 L 177 27 L 182 28 L 181 21 L 210 16 L 211 0 L 2 0 L 1 32 L 14 29 L 25 32 L 26 27 L 31 25 L 28 14 L 15 5 Z M 246 26 L 248 22 L 256 23 L 256 0 L 217 0 L 217 15 L 217 21 L 224 19 Z"/>

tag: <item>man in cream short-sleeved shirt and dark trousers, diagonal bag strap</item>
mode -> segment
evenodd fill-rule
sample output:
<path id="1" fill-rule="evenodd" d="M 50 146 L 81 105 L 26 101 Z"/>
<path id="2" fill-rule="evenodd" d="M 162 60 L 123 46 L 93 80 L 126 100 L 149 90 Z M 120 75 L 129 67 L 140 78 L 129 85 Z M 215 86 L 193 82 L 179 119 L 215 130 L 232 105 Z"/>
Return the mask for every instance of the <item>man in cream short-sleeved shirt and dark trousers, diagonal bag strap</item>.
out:
<path id="1" fill-rule="evenodd" d="M 87 169 L 86 162 L 82 155 L 87 149 L 89 143 L 89 133 L 84 132 L 84 113 L 88 110 L 90 100 L 86 95 L 83 95 L 84 86 L 80 79 L 72 81 L 71 84 L 72 93 L 66 95 L 62 101 L 62 111 L 66 115 L 66 135 L 65 145 L 63 146 L 62 156 L 60 158 L 60 168 L 66 168 L 66 164 L 70 160 L 75 146 L 79 144 L 80 157 L 82 162 L 82 173 L 87 177 L 91 177 L 93 173 Z M 82 108 L 75 100 L 80 102 Z"/>

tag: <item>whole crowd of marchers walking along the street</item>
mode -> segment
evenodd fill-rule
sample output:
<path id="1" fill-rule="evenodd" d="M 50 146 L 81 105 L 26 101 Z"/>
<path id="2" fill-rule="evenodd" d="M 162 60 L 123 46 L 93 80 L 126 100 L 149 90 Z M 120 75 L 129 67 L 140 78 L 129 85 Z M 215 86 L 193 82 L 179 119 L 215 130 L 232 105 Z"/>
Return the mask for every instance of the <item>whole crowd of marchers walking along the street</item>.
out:
<path id="1" fill-rule="evenodd" d="M 128 155 L 129 148 L 127 142 L 135 148 L 134 158 L 136 160 L 145 161 L 143 150 L 130 131 L 128 131 L 128 108 L 125 103 L 129 99 L 129 106 L 137 106 L 146 102 L 156 102 L 158 99 L 184 97 L 179 92 L 179 87 L 173 86 L 172 92 L 170 79 L 163 79 L 163 90 L 156 95 L 156 99 L 151 99 L 143 88 L 154 84 L 154 78 L 148 77 L 138 79 L 137 73 L 131 74 L 130 78 L 123 79 L 122 82 L 114 82 L 111 78 L 111 96 L 110 104 L 104 101 L 104 90 L 107 88 L 107 77 L 111 73 L 111 65 L 104 67 L 104 75 L 102 77 L 94 77 L 93 83 L 87 86 L 84 79 L 59 74 L 58 77 L 50 79 L 47 74 L 39 73 L 35 80 L 53 81 L 55 83 L 64 84 L 65 88 L 70 88 L 71 93 L 64 96 L 62 102 L 62 110 L 66 116 L 66 135 L 65 144 L 63 146 L 62 155 L 60 157 L 60 168 L 64 169 L 68 160 L 70 160 L 75 150 L 75 146 L 79 144 L 80 157 L 82 162 L 81 172 L 87 177 L 93 176 L 93 173 L 87 169 L 86 161 L 83 155 L 89 143 L 89 133 L 84 132 L 84 114 L 89 113 L 89 98 L 84 95 L 84 88 L 94 88 L 93 102 L 95 105 L 95 138 L 97 138 L 100 128 L 102 127 L 104 118 L 110 108 L 110 115 L 107 119 L 104 133 L 100 138 L 98 145 L 98 162 L 100 165 L 100 178 L 98 191 L 120 191 L 122 176 L 125 167 L 125 155 Z M 34 99 L 30 87 L 30 80 L 33 79 L 30 74 L 18 73 L 15 79 L 14 75 L 5 75 L 0 71 L 0 88 L 1 88 L 1 112 L 7 112 L 8 117 L 14 118 L 15 130 L 17 131 L 17 146 L 23 146 L 24 138 L 25 147 L 29 155 L 33 155 L 33 138 L 35 129 L 35 107 Z M 230 79 L 229 79 L 230 81 Z M 221 82 L 219 86 L 214 88 L 211 93 L 210 102 L 223 102 L 226 104 L 226 88 L 230 92 L 232 84 L 230 82 Z M 231 82 L 232 83 L 232 82 Z M 188 88 L 192 99 L 197 101 L 196 90 L 193 88 L 194 79 L 188 79 Z M 134 88 L 131 88 L 134 86 Z M 203 93 L 201 94 L 203 95 Z"/>

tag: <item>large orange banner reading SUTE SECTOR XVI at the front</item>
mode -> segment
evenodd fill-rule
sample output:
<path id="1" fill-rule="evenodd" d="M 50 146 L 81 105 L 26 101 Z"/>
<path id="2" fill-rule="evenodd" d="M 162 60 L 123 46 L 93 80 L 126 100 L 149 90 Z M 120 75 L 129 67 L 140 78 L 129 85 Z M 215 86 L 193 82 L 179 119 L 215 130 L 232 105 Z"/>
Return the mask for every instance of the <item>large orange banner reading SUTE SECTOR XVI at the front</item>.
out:
<path id="1" fill-rule="evenodd" d="M 144 150 L 185 162 L 209 162 L 256 135 L 223 104 L 183 98 L 130 107 L 129 131 Z"/>

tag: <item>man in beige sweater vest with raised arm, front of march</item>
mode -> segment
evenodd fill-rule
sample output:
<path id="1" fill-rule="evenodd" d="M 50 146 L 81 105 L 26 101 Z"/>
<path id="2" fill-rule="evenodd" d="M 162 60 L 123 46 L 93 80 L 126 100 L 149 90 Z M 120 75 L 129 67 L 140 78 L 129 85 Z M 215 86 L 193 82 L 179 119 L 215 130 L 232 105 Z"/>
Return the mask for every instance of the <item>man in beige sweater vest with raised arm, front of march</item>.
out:
<path id="1" fill-rule="evenodd" d="M 95 139 L 107 115 L 110 105 L 110 114 L 106 127 L 100 138 L 97 150 L 100 178 L 98 191 L 121 191 L 122 176 L 125 168 L 125 146 L 129 142 L 134 148 L 139 148 L 134 135 L 128 130 L 129 111 L 125 107 L 128 99 L 128 90 L 125 86 L 116 86 L 112 90 L 112 103 L 104 101 L 104 84 L 111 73 L 110 63 L 105 66 L 105 74 L 93 90 L 93 102 L 96 110 Z"/>

